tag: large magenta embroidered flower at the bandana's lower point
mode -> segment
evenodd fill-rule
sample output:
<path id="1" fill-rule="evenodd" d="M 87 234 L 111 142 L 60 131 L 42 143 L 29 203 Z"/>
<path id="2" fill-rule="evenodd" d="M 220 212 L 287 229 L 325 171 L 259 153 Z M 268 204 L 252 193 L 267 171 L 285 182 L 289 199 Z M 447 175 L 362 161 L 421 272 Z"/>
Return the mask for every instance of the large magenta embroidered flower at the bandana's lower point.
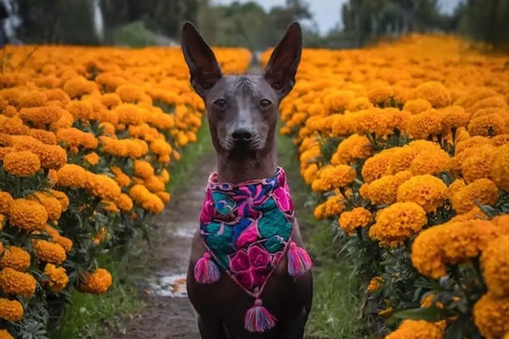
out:
<path id="1" fill-rule="evenodd" d="M 230 259 L 235 279 L 247 290 L 261 287 L 270 273 L 270 254 L 260 246 L 253 245 L 247 251 L 239 250 Z"/>

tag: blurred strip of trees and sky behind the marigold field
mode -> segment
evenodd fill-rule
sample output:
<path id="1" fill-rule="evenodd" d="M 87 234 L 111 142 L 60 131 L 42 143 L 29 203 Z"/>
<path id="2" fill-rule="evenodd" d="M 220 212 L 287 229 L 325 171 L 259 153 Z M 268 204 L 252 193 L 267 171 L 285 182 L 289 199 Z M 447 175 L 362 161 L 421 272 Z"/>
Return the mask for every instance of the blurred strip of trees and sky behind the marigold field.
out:
<path id="1" fill-rule="evenodd" d="M 0 16 L 2 44 L 172 46 L 190 20 L 211 45 L 256 52 L 299 20 L 306 47 L 445 32 L 509 50 L 509 0 L 0 0 Z"/>

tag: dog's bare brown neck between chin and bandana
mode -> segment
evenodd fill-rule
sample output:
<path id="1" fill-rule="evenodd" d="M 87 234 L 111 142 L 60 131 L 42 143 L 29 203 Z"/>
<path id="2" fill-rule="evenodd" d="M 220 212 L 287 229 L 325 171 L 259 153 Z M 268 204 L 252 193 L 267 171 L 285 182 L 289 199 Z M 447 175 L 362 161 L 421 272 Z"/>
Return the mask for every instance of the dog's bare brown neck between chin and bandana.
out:
<path id="1" fill-rule="evenodd" d="M 276 174 L 277 147 L 272 144 L 256 158 L 229 159 L 224 153 L 217 153 L 217 174 L 221 182 L 240 182 L 269 178 Z"/>

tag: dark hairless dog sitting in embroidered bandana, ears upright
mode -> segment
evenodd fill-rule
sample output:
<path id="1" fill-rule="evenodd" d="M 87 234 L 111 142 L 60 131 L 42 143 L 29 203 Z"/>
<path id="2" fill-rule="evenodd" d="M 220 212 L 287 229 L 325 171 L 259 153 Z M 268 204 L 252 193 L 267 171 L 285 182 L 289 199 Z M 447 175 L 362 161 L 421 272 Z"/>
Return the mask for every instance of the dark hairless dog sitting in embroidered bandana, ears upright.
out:
<path id="1" fill-rule="evenodd" d="M 223 75 L 189 22 L 182 51 L 205 102 L 218 164 L 187 274 L 202 339 L 302 339 L 312 263 L 276 147 L 279 103 L 295 85 L 302 53 L 300 25 L 288 27 L 261 75 Z"/>

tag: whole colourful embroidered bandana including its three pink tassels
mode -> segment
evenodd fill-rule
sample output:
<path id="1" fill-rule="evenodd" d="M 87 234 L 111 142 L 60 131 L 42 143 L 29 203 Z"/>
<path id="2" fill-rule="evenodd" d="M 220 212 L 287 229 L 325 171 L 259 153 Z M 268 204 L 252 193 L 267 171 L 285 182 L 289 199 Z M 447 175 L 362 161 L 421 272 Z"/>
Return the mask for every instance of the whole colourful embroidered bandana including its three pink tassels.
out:
<path id="1" fill-rule="evenodd" d="M 226 272 L 255 298 L 244 317 L 245 329 L 264 332 L 276 319 L 260 295 L 277 264 L 286 255 L 288 274 L 294 277 L 312 265 L 307 252 L 291 241 L 295 212 L 285 171 L 278 167 L 274 177 L 236 185 L 217 177 L 212 173 L 207 184 L 200 230 L 208 252 L 196 262 L 194 278 L 213 284 L 221 269 Z"/>

